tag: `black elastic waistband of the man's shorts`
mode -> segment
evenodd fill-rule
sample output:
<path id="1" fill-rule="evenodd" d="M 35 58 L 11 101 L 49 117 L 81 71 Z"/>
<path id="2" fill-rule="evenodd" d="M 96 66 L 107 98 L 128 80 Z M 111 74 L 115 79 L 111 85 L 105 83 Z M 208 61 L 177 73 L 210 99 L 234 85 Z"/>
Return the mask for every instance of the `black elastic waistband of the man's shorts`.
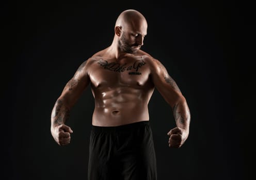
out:
<path id="1" fill-rule="evenodd" d="M 139 127 L 145 127 L 147 125 L 150 125 L 150 122 L 147 121 L 139 121 L 139 122 L 133 122 L 130 124 L 124 124 L 124 125 L 118 125 L 114 127 L 100 127 L 97 125 L 92 125 L 91 130 L 94 132 L 118 132 L 118 131 L 131 131 Z"/>

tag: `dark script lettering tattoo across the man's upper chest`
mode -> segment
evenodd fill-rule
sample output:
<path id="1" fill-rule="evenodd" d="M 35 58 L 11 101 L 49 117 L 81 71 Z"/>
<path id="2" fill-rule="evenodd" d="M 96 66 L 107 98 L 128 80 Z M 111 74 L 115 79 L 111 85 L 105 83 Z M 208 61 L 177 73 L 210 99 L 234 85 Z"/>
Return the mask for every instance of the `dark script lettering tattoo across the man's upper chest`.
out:
<path id="1" fill-rule="evenodd" d="M 115 71 L 118 73 L 122 73 L 124 71 L 129 71 L 129 75 L 141 75 L 138 71 L 143 65 L 146 64 L 143 60 L 137 60 L 133 63 L 133 65 L 127 65 L 127 63 L 120 64 L 116 62 L 107 62 L 106 60 L 101 59 L 98 64 L 102 66 L 104 69 Z"/>

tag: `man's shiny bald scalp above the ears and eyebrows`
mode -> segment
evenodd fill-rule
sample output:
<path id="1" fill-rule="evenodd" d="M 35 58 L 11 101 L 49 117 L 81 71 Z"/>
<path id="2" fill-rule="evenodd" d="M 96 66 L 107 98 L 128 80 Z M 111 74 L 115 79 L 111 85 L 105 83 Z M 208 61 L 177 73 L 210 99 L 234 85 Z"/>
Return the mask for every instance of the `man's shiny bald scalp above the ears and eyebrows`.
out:
<path id="1" fill-rule="evenodd" d="M 147 21 L 145 17 L 137 10 L 128 9 L 118 16 L 116 21 L 116 26 L 120 26 L 122 29 L 125 29 L 126 26 L 139 26 L 144 25 L 147 28 Z"/>

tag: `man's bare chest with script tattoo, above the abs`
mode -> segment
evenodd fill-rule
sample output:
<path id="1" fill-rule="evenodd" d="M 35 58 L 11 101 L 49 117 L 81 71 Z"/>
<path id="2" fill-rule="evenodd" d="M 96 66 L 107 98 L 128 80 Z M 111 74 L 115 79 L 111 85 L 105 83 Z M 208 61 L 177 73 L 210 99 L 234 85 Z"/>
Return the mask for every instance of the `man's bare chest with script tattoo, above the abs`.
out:
<path id="1" fill-rule="evenodd" d="M 99 60 L 90 68 L 93 87 L 130 86 L 141 88 L 149 83 L 150 69 L 143 60 L 114 62 Z"/>

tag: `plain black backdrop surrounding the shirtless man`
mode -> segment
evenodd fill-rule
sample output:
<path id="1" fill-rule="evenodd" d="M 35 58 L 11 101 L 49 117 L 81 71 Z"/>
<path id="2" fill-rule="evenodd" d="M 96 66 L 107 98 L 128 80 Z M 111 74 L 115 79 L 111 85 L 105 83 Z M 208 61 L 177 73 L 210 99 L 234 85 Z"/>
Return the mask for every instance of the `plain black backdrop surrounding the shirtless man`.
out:
<path id="1" fill-rule="evenodd" d="M 148 35 L 141 49 L 166 66 L 190 107 L 189 137 L 182 148 L 169 149 L 174 119 L 156 90 L 152 96 L 158 179 L 252 179 L 252 5 L 19 1 L 1 9 L 3 179 L 87 179 L 90 87 L 67 122 L 74 131 L 69 146 L 55 143 L 50 115 L 78 66 L 111 44 L 116 18 L 125 9 L 145 15 Z"/>

